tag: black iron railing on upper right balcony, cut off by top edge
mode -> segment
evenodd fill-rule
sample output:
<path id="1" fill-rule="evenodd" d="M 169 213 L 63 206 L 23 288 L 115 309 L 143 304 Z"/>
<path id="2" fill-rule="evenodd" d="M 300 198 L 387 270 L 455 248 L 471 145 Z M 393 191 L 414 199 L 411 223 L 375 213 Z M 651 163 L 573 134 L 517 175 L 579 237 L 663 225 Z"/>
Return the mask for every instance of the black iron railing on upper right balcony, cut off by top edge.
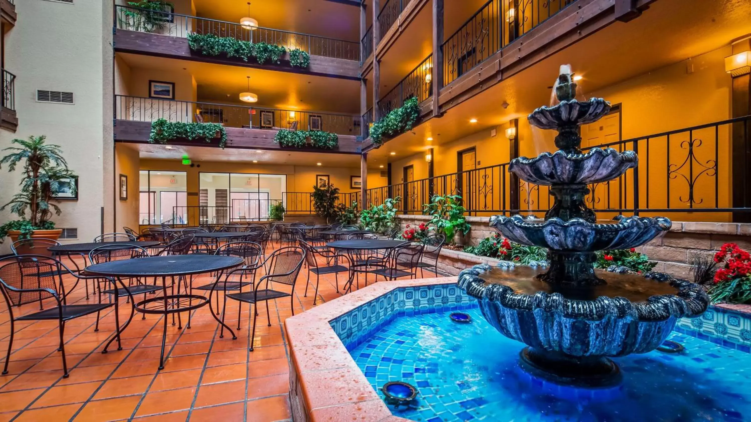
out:
<path id="1" fill-rule="evenodd" d="M 488 0 L 442 45 L 448 85 L 575 0 Z"/>

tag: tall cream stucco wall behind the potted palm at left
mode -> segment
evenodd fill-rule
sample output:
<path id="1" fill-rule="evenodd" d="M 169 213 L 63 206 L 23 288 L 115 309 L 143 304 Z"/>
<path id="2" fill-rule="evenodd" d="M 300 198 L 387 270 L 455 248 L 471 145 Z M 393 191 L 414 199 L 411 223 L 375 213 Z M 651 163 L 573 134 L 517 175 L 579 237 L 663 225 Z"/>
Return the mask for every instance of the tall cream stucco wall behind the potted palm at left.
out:
<path id="1" fill-rule="evenodd" d="M 101 232 L 102 207 L 112 208 L 107 192 L 113 164 L 111 4 L 17 1 L 16 10 L 17 25 L 5 34 L 5 68 L 17 75 L 19 125 L 16 133 L 0 130 L 0 148 L 31 135 L 47 135 L 49 143 L 61 146 L 80 176 L 80 192 L 77 201 L 61 202 L 63 214 L 53 220 L 59 228 L 76 227 L 81 240 L 90 240 Z M 73 92 L 74 104 L 38 103 L 38 89 Z M 2 171 L 0 202 L 5 204 L 17 192 L 20 172 Z M 14 218 L 0 212 L 0 221 Z M 8 244 L 0 252 L 7 252 Z"/>

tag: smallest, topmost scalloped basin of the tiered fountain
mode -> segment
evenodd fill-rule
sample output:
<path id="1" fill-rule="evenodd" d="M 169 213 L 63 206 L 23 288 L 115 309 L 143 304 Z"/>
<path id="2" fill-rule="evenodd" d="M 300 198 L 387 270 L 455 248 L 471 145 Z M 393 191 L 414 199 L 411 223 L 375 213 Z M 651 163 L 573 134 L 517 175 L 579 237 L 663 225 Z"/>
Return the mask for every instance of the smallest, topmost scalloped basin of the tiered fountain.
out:
<path id="1" fill-rule="evenodd" d="M 610 111 L 610 103 L 603 98 L 590 98 L 587 101 L 562 100 L 555 106 L 542 106 L 529 113 L 527 118 L 532 126 L 540 129 L 558 129 L 598 121 Z"/>

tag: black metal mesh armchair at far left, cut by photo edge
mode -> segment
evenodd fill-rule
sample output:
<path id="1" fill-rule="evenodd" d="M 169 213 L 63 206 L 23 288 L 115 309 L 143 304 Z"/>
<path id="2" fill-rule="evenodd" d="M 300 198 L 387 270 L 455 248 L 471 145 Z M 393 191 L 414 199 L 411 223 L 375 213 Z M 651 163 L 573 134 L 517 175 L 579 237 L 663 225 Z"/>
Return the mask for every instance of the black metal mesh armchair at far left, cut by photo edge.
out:
<path id="1" fill-rule="evenodd" d="M 42 276 L 40 274 L 51 274 Z M 70 289 L 65 289 L 62 275 L 75 277 L 76 282 Z M 90 278 L 71 271 L 50 256 L 44 255 L 20 255 L 0 259 L 0 290 L 2 290 L 5 303 L 8 304 L 8 320 L 11 325 L 11 335 L 8 339 L 8 353 L 5 355 L 5 367 L 2 374 L 8 373 L 8 364 L 11 361 L 11 351 L 13 350 L 13 339 L 15 334 L 15 322 L 17 321 L 57 321 L 60 334 L 60 343 L 58 351 L 62 355 L 63 378 L 68 378 L 68 363 L 65 360 L 65 322 L 71 319 L 77 319 L 92 313 L 99 313 L 107 308 L 114 307 L 115 314 L 115 337 L 117 340 L 118 350 L 122 349 L 120 343 L 120 324 L 119 310 L 116 298 L 110 296 L 110 301 L 102 303 L 101 298 L 98 304 L 68 304 L 67 298 L 74 291 L 80 280 Z M 115 280 L 106 278 L 106 280 L 117 288 Z M 26 313 L 20 316 L 14 316 L 13 307 L 22 304 L 28 304 L 34 301 L 44 301 L 53 299 L 55 307 L 46 310 L 40 310 L 35 313 Z"/>

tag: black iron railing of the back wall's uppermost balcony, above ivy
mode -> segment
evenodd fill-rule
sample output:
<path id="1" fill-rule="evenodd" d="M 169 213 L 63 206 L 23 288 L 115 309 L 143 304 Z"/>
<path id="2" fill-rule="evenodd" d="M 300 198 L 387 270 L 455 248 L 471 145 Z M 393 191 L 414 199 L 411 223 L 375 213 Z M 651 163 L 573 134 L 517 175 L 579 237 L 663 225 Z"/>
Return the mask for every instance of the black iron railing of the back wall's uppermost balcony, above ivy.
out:
<path id="1" fill-rule="evenodd" d="M 337 40 L 311 34 L 255 27 L 244 28 L 234 22 L 206 19 L 198 16 L 170 12 L 155 12 L 137 7 L 116 6 L 115 25 L 118 29 L 150 32 L 154 34 L 187 37 L 191 32 L 232 37 L 252 43 L 270 43 L 287 49 L 302 49 L 310 55 L 320 55 L 345 60 L 360 60 L 360 43 Z"/>

